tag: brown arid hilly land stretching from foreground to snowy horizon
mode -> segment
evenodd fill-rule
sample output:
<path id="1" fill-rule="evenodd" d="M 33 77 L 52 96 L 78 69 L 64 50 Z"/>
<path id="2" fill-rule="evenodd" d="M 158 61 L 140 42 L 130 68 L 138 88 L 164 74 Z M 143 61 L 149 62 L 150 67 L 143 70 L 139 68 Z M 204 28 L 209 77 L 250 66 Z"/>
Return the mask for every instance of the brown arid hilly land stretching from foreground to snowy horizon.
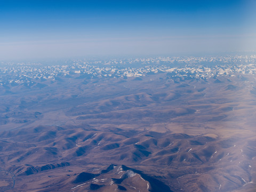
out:
<path id="1" fill-rule="evenodd" d="M 2 66 L 0 191 L 255 191 L 256 65 L 237 60 Z"/>

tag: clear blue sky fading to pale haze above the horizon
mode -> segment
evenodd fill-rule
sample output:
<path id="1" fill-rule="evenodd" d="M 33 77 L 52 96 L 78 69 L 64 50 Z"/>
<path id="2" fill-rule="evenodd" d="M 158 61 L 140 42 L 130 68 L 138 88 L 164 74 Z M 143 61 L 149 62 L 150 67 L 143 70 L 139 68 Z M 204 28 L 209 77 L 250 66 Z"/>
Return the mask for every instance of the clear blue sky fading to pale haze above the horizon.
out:
<path id="1" fill-rule="evenodd" d="M 255 0 L 0 0 L 0 60 L 255 51 L 255 10 Z"/>

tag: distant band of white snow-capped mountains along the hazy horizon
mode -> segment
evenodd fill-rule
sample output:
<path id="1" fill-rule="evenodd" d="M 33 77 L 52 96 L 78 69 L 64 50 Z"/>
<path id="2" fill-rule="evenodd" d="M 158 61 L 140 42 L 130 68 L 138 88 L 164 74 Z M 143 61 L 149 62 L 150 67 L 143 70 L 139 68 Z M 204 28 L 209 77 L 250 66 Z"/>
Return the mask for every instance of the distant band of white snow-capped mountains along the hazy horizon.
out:
<path id="1" fill-rule="evenodd" d="M 143 77 L 166 73 L 169 78 L 207 79 L 220 75 L 256 74 L 256 55 L 226 57 L 157 57 L 102 61 L 74 60 L 70 65 L 1 63 L 0 84 L 17 86 L 62 78 Z"/>

